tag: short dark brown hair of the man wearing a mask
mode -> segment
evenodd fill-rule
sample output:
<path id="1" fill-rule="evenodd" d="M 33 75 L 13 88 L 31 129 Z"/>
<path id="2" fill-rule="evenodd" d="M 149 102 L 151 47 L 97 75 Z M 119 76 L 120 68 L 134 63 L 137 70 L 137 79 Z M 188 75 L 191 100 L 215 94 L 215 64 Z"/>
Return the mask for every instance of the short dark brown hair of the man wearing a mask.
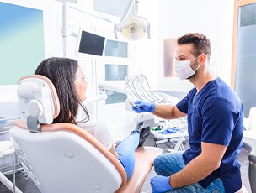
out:
<path id="1" fill-rule="evenodd" d="M 183 36 L 177 39 L 177 44 L 192 44 L 193 45 L 193 55 L 195 57 L 205 54 L 208 57 L 208 60 L 211 56 L 211 43 L 210 40 L 200 33 L 189 33 L 184 34 Z"/>

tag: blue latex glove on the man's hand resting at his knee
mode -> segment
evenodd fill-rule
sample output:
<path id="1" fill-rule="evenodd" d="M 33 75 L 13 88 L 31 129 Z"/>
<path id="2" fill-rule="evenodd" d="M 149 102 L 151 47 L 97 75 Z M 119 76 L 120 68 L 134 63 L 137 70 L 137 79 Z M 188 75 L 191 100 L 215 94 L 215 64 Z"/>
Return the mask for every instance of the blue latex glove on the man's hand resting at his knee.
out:
<path id="1" fill-rule="evenodd" d="M 155 177 L 152 177 L 152 179 L 150 180 L 152 193 L 160 193 L 173 190 L 173 188 L 169 184 L 170 177 L 171 176 L 166 177 L 163 175 L 157 175 Z"/>

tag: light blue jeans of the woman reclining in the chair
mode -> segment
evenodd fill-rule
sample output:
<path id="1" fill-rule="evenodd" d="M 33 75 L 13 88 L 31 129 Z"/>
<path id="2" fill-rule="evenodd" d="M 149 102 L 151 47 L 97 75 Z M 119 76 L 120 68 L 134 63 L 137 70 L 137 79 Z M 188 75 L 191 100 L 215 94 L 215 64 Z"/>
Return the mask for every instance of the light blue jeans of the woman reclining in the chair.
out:
<path id="1" fill-rule="evenodd" d="M 121 141 L 115 148 L 118 159 L 126 171 L 127 180 L 131 177 L 135 165 L 135 149 L 140 142 L 140 133 L 132 132 L 127 138 Z"/>

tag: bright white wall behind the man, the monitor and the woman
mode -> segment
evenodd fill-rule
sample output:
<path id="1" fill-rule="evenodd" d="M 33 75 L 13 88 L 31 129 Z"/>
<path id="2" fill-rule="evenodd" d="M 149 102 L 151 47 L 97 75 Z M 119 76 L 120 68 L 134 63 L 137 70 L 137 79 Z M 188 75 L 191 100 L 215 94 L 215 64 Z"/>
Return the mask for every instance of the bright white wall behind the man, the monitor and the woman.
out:
<path id="1" fill-rule="evenodd" d="M 62 3 L 51 0 L 4 0 L 6 3 L 44 10 L 45 58 L 62 56 Z M 92 0 L 78 1 L 79 5 L 92 9 Z M 216 75 L 230 83 L 232 59 L 232 1 L 223 0 L 141 0 L 139 15 L 151 24 L 151 39 L 131 43 L 131 74 L 144 74 L 152 90 L 188 91 L 189 81 L 163 77 L 163 39 L 170 39 L 188 32 L 201 32 L 211 39 L 211 65 L 215 65 Z M 69 25 L 78 30 L 85 29 L 106 34 L 114 39 L 113 26 L 83 13 L 71 11 Z M 116 18 L 113 18 L 116 19 Z M 119 21 L 116 19 L 115 21 Z M 70 38 L 68 52 L 75 57 L 77 39 Z M 87 75 L 88 95 L 97 93 L 95 71 L 98 66 L 92 60 L 80 58 L 80 65 Z M 11 76 L 11 75 L 10 75 Z M 2 89 L 4 88 L 4 89 Z M 8 91 L 6 91 L 6 88 Z M 0 102 L 16 101 L 16 86 L 0 86 Z M 97 107 L 97 109 L 104 107 Z M 94 108 L 95 109 L 95 108 Z M 0 110 L 3 111 L 3 110 Z M 95 113 L 95 112 L 93 112 Z M 99 117 L 104 115 L 99 115 Z M 127 115 L 123 115 L 127 119 Z M 121 120 L 121 117 L 120 117 Z"/>

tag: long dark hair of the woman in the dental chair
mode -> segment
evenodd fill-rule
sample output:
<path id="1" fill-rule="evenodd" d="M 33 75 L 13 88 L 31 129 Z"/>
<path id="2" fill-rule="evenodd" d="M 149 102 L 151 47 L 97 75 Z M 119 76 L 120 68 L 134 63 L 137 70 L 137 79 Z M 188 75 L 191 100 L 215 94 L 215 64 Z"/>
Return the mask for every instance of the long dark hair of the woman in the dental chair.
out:
<path id="1" fill-rule="evenodd" d="M 88 110 L 81 102 L 74 81 L 78 69 L 77 60 L 51 57 L 40 62 L 35 75 L 48 77 L 56 88 L 60 100 L 60 114 L 53 123 L 75 123 L 79 105 L 87 115 L 83 121 L 89 120 Z"/>

